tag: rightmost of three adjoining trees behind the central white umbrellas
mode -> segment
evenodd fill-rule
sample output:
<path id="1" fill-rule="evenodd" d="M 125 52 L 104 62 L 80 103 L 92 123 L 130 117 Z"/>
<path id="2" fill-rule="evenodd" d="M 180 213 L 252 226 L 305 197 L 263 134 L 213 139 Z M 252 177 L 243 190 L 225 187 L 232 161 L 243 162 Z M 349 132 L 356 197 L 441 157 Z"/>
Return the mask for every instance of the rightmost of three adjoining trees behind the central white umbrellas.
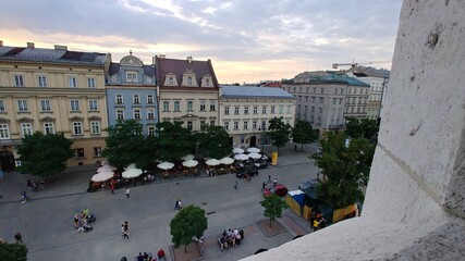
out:
<path id="1" fill-rule="evenodd" d="M 207 125 L 198 134 L 198 152 L 215 159 L 231 153 L 229 134 L 222 126 Z"/>

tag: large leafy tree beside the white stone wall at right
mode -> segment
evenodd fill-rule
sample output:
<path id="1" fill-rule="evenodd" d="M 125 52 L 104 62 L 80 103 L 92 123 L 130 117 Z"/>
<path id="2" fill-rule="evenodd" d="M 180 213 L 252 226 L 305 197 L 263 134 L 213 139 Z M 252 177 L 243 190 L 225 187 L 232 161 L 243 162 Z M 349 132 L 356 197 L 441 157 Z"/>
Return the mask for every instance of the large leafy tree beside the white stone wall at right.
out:
<path id="1" fill-rule="evenodd" d="M 314 154 L 323 178 L 317 187 L 318 198 L 335 208 L 363 200 L 360 187 L 368 183 L 375 146 L 367 139 L 353 138 L 346 147 L 346 134 L 326 133 L 320 140 L 321 153 Z"/>

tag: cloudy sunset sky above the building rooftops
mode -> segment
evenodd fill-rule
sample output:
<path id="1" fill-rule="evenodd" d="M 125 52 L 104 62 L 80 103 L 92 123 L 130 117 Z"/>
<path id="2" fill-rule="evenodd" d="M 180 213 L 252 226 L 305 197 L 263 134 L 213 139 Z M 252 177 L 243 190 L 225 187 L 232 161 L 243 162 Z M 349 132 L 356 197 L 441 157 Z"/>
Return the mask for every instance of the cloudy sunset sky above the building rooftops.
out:
<path id="1" fill-rule="evenodd" d="M 4 46 L 211 59 L 220 83 L 390 69 L 401 0 L 0 0 Z"/>

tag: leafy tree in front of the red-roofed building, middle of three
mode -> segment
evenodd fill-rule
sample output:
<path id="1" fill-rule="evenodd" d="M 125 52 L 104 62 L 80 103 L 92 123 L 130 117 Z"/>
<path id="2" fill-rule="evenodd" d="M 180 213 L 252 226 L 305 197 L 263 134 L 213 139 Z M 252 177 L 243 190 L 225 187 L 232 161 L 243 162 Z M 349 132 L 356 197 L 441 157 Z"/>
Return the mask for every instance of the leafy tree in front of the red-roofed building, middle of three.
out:
<path id="1" fill-rule="evenodd" d="M 159 122 L 159 147 L 157 158 L 162 161 L 176 161 L 195 150 L 196 137 L 182 126 L 183 122 Z"/>

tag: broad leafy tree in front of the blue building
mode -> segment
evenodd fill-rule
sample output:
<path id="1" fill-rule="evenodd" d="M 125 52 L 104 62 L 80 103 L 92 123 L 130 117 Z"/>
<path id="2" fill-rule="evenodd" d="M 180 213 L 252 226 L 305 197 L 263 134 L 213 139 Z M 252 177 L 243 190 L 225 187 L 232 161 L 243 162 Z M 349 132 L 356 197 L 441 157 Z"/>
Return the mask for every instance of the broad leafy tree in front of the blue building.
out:
<path id="1" fill-rule="evenodd" d="M 156 140 L 143 135 L 143 125 L 136 120 L 118 121 L 107 128 L 106 148 L 101 152 L 108 161 L 119 167 L 131 163 L 145 167 L 155 158 Z"/>

